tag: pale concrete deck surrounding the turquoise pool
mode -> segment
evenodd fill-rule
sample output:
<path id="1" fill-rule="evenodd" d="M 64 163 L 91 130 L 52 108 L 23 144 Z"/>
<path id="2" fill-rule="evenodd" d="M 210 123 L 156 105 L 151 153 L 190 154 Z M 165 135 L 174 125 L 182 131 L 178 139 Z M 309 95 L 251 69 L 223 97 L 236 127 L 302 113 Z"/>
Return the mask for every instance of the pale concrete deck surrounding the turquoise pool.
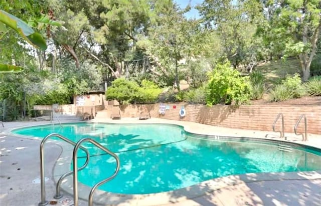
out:
<path id="1" fill-rule="evenodd" d="M 147 120 L 137 120 L 137 118 L 94 119 L 89 122 L 173 123 L 183 125 L 187 131 L 199 134 L 268 138 L 283 141 L 277 137 L 279 133 L 271 131 L 231 129 L 158 118 Z M 49 122 L 5 122 L 4 124 L 5 128 L 0 125 L 0 205 L 38 205 L 40 184 L 32 181 L 40 175 L 40 140 L 17 137 L 12 135 L 10 130 L 24 126 L 49 124 Z M 266 135 L 268 136 L 265 137 Z M 321 135 L 308 134 L 307 142 L 302 142 L 302 137 L 293 133 L 285 133 L 285 136 L 288 142 L 321 148 Z M 62 149 L 61 145 L 57 145 L 55 141 L 46 144 L 45 176 L 49 177 L 46 182 L 47 200 L 54 200 L 55 179 L 59 177 L 58 168 L 70 166 L 70 160 L 64 157 L 66 151 L 68 149 L 65 147 Z M 71 188 L 68 182 L 70 179 L 63 183 L 63 189 L 70 192 Z M 80 197 L 88 195 L 85 191 L 88 188 L 79 189 Z M 66 194 L 65 191 L 64 194 Z M 108 196 L 106 192 L 97 191 L 94 201 L 106 202 L 106 197 L 109 197 L 109 203 L 104 205 L 320 205 L 321 171 L 232 175 L 183 188 L 179 192 L 157 194 L 159 193 L 145 196 Z M 71 194 L 66 196 L 72 198 Z M 79 203 L 80 205 L 88 204 L 82 199 Z M 58 202 L 56 205 L 63 204 Z"/>

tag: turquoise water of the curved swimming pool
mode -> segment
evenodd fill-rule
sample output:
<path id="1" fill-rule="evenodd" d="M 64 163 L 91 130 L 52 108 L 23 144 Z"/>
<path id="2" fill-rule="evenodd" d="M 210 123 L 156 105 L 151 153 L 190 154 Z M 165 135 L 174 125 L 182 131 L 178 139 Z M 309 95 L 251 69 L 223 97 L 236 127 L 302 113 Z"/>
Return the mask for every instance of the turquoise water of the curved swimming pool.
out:
<path id="1" fill-rule="evenodd" d="M 57 132 L 73 141 L 91 137 L 116 152 L 118 175 L 99 189 L 125 194 L 170 191 L 199 182 L 250 172 L 290 172 L 321 169 L 321 152 L 292 146 L 280 151 L 278 143 L 205 139 L 168 124 L 78 123 L 39 126 L 13 133 L 45 137 Z M 85 145 L 93 154 L 88 166 L 79 171 L 79 181 L 93 186 L 110 176 L 115 160 Z M 79 165 L 83 164 L 79 154 Z"/>

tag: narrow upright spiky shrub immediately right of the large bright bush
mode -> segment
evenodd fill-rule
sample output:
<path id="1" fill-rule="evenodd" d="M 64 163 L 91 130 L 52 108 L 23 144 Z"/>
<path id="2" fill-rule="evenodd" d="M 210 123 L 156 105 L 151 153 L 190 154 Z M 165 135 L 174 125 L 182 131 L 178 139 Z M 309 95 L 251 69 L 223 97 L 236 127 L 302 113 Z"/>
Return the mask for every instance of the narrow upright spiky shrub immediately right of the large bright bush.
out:
<path id="1" fill-rule="evenodd" d="M 251 99 L 262 99 L 266 88 L 265 78 L 260 71 L 254 71 L 250 74 Z"/>

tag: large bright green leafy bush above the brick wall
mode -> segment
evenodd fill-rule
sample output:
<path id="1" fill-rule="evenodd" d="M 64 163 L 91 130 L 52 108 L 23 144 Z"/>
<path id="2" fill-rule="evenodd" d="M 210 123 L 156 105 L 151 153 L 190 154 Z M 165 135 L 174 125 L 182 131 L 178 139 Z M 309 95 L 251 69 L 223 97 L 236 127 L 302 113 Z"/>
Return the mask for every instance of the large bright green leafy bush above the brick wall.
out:
<path id="1" fill-rule="evenodd" d="M 206 103 L 239 105 L 250 99 L 250 84 L 240 72 L 231 68 L 229 62 L 218 64 L 209 75 L 209 83 L 206 89 Z"/>

